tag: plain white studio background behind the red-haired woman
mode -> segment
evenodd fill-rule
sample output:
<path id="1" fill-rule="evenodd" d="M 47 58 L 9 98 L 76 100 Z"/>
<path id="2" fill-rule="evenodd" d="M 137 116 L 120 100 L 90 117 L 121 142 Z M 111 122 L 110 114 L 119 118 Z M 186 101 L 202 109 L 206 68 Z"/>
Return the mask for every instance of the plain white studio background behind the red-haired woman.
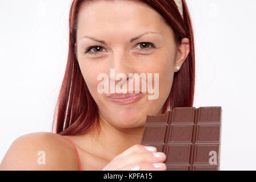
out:
<path id="1" fill-rule="evenodd" d="M 256 166 L 256 1 L 187 0 L 194 106 L 222 106 L 221 170 Z M 65 71 L 71 0 L 0 1 L 0 161 L 21 135 L 51 131 Z"/>

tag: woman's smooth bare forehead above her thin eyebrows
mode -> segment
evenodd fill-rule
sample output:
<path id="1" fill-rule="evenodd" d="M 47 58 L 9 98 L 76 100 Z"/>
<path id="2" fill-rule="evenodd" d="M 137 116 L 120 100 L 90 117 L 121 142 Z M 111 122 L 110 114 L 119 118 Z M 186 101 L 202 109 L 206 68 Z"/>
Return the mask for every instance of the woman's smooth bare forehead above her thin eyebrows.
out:
<path id="1" fill-rule="evenodd" d="M 141 1 L 99 0 L 84 3 L 78 14 L 78 36 L 84 32 L 102 34 L 102 31 L 106 34 L 134 34 L 139 30 L 164 34 L 170 33 L 170 29 L 157 11 Z"/>

